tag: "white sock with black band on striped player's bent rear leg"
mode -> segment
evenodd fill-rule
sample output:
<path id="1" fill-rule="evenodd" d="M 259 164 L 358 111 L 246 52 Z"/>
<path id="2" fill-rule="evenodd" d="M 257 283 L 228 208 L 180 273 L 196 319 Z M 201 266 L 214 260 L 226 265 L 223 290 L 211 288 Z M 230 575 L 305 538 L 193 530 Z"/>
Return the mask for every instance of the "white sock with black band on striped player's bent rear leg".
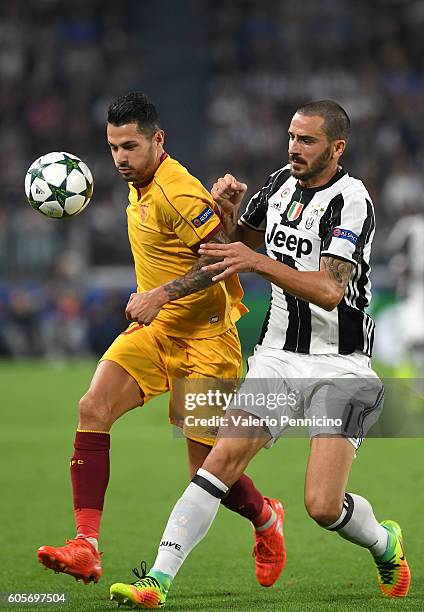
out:
<path id="1" fill-rule="evenodd" d="M 386 529 L 375 518 L 371 504 L 355 493 L 345 494 L 341 515 L 326 529 L 337 531 L 345 540 L 369 548 L 374 557 L 381 557 L 386 551 Z"/>

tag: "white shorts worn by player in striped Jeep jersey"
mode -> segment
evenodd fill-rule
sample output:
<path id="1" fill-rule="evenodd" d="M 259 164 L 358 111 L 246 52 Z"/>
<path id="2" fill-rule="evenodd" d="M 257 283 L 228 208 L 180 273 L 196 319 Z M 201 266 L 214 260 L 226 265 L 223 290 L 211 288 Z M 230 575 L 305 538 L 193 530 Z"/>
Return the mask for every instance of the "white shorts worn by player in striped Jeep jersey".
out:
<path id="1" fill-rule="evenodd" d="M 304 355 L 256 347 L 248 364 L 227 414 L 243 410 L 258 417 L 272 437 L 268 447 L 288 427 L 307 426 L 310 437 L 342 435 L 358 448 L 382 411 L 383 383 L 363 353 Z"/>

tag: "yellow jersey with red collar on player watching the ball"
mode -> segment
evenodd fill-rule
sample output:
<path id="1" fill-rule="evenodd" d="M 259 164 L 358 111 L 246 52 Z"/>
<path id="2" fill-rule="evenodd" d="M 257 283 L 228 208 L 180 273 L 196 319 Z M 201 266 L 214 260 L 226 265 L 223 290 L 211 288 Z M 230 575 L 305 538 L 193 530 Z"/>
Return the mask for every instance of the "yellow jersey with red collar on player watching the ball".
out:
<path id="1" fill-rule="evenodd" d="M 164 155 L 152 180 L 129 185 L 128 235 L 137 291 L 149 291 L 184 276 L 197 248 L 222 229 L 217 206 L 198 179 Z M 152 325 L 170 336 L 209 338 L 223 333 L 247 308 L 237 275 L 166 304 Z"/>

